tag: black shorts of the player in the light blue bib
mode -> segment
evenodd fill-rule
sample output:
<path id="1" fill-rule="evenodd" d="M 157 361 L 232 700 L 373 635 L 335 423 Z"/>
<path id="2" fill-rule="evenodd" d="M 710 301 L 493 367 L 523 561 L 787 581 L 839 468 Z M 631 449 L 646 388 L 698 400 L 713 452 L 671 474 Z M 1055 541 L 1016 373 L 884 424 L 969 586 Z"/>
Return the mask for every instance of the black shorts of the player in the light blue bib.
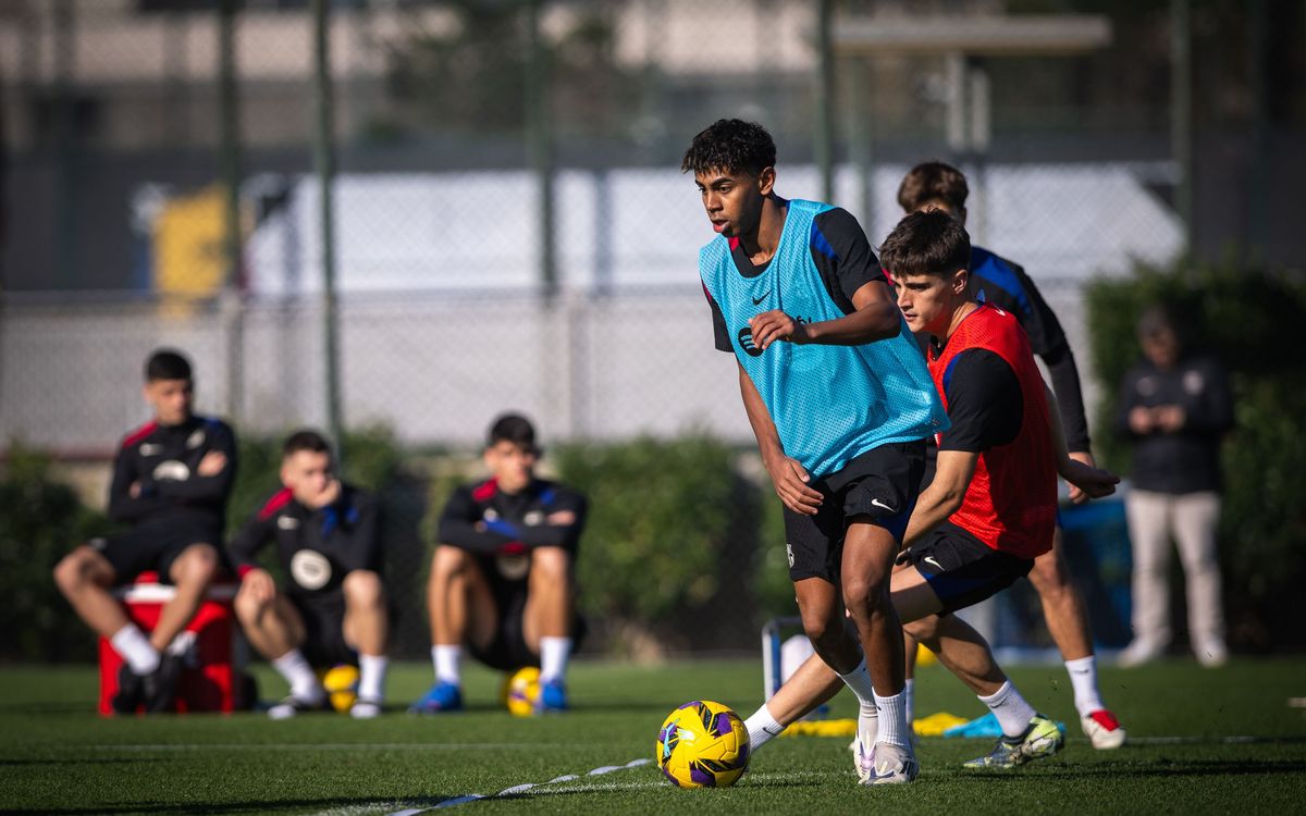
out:
<path id="1" fill-rule="evenodd" d="M 901 542 L 923 467 L 925 441 L 917 440 L 872 448 L 812 482 L 811 487 L 824 496 L 815 516 L 785 508 L 790 580 L 823 578 L 837 585 L 852 518 L 870 517 Z"/>

